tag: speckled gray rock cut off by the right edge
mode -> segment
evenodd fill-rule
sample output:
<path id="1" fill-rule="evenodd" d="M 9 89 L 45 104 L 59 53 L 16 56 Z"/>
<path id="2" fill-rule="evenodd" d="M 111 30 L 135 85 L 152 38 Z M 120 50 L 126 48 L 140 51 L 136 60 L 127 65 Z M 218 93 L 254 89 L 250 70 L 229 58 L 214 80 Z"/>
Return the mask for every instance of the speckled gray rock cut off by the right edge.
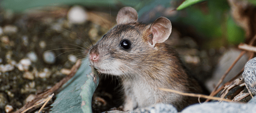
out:
<path id="1" fill-rule="evenodd" d="M 245 86 L 249 90 L 251 96 L 256 95 L 256 57 L 249 60 L 245 64 L 245 70 L 243 71 L 243 79 L 245 81 Z"/>

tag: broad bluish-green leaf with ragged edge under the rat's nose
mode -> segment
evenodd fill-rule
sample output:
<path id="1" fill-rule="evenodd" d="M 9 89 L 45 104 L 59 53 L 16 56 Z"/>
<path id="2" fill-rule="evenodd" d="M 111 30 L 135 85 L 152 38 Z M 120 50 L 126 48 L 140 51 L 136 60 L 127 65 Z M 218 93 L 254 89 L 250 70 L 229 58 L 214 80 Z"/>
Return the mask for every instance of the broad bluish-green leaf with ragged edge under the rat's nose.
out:
<path id="1" fill-rule="evenodd" d="M 81 86 L 83 84 L 87 84 L 88 86 L 86 87 L 88 92 L 83 92 L 88 94 L 88 96 L 86 99 L 85 96 L 83 101 L 86 101 L 86 104 L 91 107 L 91 97 L 93 96 L 92 94 L 96 86 L 91 85 L 93 79 L 86 75 L 91 73 L 91 67 L 88 66 L 88 64 L 87 59 L 83 60 L 75 75 L 61 87 L 61 92 L 56 95 L 56 99 L 51 105 L 52 111 L 50 111 L 50 113 L 84 113 L 84 110 L 81 108 L 82 98 L 80 96 L 80 93 L 82 93 Z M 86 113 L 91 113 L 91 110 L 89 111 L 90 112 Z"/>

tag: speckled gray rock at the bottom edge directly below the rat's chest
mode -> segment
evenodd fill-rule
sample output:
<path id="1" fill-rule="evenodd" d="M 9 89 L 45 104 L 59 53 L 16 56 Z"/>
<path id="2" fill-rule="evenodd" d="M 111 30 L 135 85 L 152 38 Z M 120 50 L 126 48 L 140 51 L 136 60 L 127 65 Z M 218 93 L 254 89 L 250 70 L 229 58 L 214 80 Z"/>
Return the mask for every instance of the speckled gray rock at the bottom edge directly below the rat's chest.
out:
<path id="1" fill-rule="evenodd" d="M 104 112 L 103 112 L 104 113 Z M 149 107 L 140 108 L 134 111 L 107 111 L 107 113 L 177 113 L 176 108 L 170 104 L 156 104 Z"/>

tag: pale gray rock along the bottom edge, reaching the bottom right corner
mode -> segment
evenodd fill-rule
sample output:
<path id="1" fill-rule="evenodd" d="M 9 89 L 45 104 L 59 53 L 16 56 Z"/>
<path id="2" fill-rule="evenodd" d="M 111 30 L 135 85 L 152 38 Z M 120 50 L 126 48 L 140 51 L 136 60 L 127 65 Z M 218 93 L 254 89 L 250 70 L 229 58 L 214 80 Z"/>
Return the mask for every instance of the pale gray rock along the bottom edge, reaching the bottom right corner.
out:
<path id="1" fill-rule="evenodd" d="M 191 105 L 181 113 L 256 113 L 256 104 L 207 102 Z"/>

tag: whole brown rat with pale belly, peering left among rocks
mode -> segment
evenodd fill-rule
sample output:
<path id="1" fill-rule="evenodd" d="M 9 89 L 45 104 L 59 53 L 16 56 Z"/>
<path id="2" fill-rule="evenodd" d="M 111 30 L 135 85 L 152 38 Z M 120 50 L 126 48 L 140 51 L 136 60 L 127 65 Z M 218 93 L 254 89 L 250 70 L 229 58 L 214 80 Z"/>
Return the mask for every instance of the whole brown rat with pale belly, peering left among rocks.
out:
<path id="1" fill-rule="evenodd" d="M 119 76 L 124 91 L 124 111 L 149 105 L 172 104 L 178 111 L 198 98 L 166 92 L 202 93 L 188 73 L 176 50 L 164 43 L 171 34 L 171 21 L 157 18 L 151 24 L 138 22 L 131 7 L 119 10 L 117 25 L 89 51 L 89 62 L 99 73 Z"/>

